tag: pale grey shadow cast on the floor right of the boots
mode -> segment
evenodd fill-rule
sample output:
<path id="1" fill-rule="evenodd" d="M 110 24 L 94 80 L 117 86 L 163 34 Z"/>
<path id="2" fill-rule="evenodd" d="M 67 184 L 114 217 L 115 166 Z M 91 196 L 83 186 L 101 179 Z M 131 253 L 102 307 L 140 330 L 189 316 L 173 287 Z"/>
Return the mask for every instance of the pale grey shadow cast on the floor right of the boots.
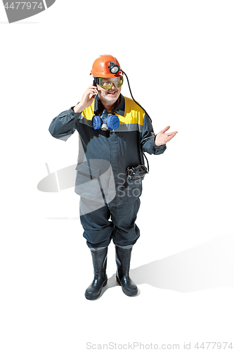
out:
<path id="1" fill-rule="evenodd" d="M 130 276 L 137 285 L 149 284 L 184 293 L 234 287 L 233 247 L 233 235 L 217 237 L 200 246 L 132 269 Z M 114 274 L 108 279 L 102 294 L 115 286 L 118 284 Z"/>

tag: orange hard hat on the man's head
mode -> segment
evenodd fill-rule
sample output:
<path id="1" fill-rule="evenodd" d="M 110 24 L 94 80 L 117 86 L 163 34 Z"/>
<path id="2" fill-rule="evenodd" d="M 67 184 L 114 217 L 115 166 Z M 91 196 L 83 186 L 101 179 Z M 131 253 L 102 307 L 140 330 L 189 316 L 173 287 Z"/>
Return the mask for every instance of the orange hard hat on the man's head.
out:
<path id="1" fill-rule="evenodd" d="M 119 66 L 119 71 L 115 74 L 110 73 L 109 66 L 110 63 L 116 64 Z M 100 55 L 99 58 L 96 58 L 96 60 L 93 63 L 93 67 L 91 69 L 91 75 L 93 77 L 120 77 L 122 76 L 122 71 L 120 70 L 120 65 L 119 61 L 117 61 L 117 58 L 115 58 L 112 55 Z"/>

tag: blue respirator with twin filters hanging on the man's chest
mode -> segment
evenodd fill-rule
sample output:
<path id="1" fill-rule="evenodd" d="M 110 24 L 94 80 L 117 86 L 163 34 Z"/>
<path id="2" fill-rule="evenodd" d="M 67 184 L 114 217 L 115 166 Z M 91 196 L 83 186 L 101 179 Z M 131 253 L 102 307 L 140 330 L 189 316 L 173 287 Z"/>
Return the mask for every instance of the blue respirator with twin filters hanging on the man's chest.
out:
<path id="1" fill-rule="evenodd" d="M 92 119 L 92 125 L 94 130 L 117 130 L 119 127 L 119 118 L 117 115 L 108 113 L 105 109 L 101 116 L 95 115 Z"/>

